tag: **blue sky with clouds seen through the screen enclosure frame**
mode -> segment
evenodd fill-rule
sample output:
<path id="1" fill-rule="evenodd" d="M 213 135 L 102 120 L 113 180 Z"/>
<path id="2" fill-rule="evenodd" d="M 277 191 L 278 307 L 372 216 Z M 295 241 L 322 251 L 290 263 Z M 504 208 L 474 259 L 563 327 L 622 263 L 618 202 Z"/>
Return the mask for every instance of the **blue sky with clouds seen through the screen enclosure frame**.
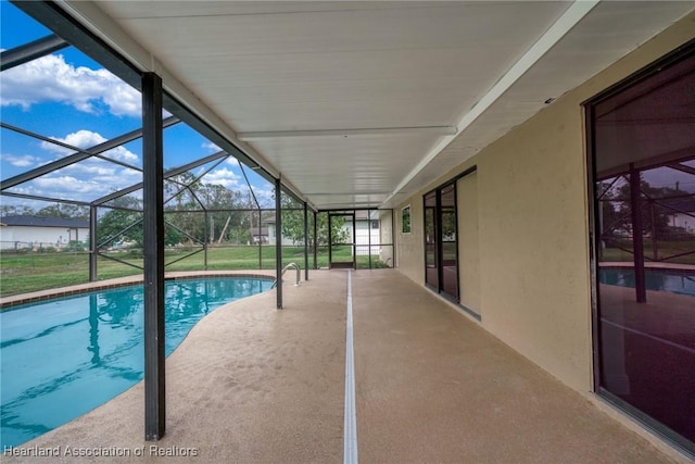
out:
<path id="1" fill-rule="evenodd" d="M 2 50 L 51 34 L 5 0 L 0 1 L 0 20 Z M 139 128 L 140 98 L 137 90 L 74 47 L 0 73 L 3 123 L 78 148 L 88 148 Z M 216 151 L 217 147 L 185 124 L 164 133 L 165 168 Z M 53 143 L 1 129 L 0 177 L 7 179 L 71 153 Z M 137 167 L 142 166 L 141 154 L 139 140 L 104 153 Z M 258 200 L 271 204 L 273 186 L 251 170 L 245 171 Z M 141 175 L 136 170 L 90 160 L 17 186 L 12 191 L 90 201 L 140 180 Z M 233 159 L 220 164 L 203 181 L 248 191 Z M 0 197 L 0 202 L 35 209 L 47 205 L 9 197 Z"/>

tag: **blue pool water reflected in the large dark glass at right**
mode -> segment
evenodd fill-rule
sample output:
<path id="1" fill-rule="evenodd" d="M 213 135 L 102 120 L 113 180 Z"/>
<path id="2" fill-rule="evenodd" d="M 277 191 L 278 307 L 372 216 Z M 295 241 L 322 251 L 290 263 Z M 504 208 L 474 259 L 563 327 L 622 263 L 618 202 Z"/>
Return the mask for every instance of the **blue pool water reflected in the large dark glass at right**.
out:
<path id="1" fill-rule="evenodd" d="M 634 288 L 634 271 L 630 268 L 603 268 L 598 272 L 602 284 Z M 695 296 L 695 273 L 646 269 L 647 290 Z"/>

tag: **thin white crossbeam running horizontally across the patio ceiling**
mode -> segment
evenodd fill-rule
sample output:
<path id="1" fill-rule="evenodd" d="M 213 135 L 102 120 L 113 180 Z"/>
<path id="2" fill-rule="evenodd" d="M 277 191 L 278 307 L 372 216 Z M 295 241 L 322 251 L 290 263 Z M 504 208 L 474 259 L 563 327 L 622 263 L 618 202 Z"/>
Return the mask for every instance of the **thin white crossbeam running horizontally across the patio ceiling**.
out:
<path id="1" fill-rule="evenodd" d="M 354 129 L 317 129 L 317 130 L 270 130 L 237 133 L 237 137 L 244 141 L 292 137 L 361 137 L 361 136 L 392 136 L 392 135 L 432 135 L 453 136 L 456 127 L 452 126 L 418 126 L 418 127 L 371 127 Z"/>

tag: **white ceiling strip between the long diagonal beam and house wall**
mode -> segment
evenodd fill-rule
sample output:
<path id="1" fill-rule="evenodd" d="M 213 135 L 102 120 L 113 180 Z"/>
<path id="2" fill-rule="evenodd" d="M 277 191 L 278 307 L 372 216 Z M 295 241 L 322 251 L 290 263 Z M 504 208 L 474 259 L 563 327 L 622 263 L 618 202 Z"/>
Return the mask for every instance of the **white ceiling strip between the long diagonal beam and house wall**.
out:
<path id="1" fill-rule="evenodd" d="M 485 113 L 403 186 L 425 187 L 545 106 L 548 98 L 584 83 L 695 8 L 687 2 L 601 2 L 521 76 Z M 610 25 L 610 27 L 607 27 Z M 551 103 L 552 104 L 552 103 Z M 393 206 L 403 195 L 384 205 Z"/>

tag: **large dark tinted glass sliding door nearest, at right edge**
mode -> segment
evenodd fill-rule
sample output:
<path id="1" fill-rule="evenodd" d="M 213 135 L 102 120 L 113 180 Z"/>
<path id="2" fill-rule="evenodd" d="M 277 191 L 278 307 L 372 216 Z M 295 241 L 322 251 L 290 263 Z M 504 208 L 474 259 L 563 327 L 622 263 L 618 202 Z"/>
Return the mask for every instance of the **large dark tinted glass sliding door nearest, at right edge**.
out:
<path id="1" fill-rule="evenodd" d="M 695 452 L 695 46 L 586 105 L 595 384 Z"/>

